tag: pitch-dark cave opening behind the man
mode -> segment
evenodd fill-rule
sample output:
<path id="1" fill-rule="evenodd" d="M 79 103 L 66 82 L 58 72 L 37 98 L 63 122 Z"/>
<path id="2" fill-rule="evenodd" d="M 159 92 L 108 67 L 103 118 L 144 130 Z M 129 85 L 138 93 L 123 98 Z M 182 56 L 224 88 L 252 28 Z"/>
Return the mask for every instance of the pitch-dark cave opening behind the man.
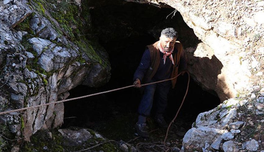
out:
<path id="1" fill-rule="evenodd" d="M 93 33 L 109 53 L 111 79 L 100 88 L 78 86 L 70 90 L 68 98 L 131 85 L 133 74 L 139 65 L 146 45 L 156 42 L 162 29 L 173 27 L 178 31 L 178 40 L 184 48 L 196 47 L 200 42 L 184 22 L 179 12 L 167 6 L 159 8 L 148 4 L 118 1 L 88 3 L 93 24 Z M 168 16 L 171 14 L 170 16 Z M 166 19 L 167 18 L 167 19 Z M 89 35 L 88 35 L 89 36 Z M 187 87 L 188 76 L 180 76 L 176 88 L 169 92 L 165 118 L 169 123 L 175 116 Z M 214 94 L 214 95 L 213 95 Z M 214 92 L 204 91 L 191 78 L 189 92 L 176 119 L 175 132 L 182 138 L 191 128 L 197 115 L 220 104 Z M 137 121 L 137 107 L 141 99 L 139 90 L 128 88 L 78 101 L 66 102 L 62 127 L 88 127 L 116 140 L 131 139 Z M 151 123 L 151 119 L 148 119 Z"/>

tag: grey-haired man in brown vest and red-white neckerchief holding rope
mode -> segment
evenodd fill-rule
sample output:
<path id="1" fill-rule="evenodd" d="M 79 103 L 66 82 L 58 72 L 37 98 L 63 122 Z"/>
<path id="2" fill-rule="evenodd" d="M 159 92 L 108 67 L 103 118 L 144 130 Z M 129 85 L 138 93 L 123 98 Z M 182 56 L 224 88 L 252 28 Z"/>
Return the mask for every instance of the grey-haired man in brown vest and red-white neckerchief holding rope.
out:
<path id="1" fill-rule="evenodd" d="M 180 42 L 176 42 L 177 38 L 178 33 L 173 28 L 166 28 L 162 30 L 159 41 L 147 46 L 134 73 L 135 87 L 140 88 L 141 82 L 150 83 L 173 78 L 178 74 L 179 65 L 181 71 L 186 70 L 187 59 Z M 138 122 L 136 123 L 139 136 L 148 137 L 146 117 L 150 115 L 155 91 L 157 110 L 154 120 L 160 127 L 167 127 L 163 113 L 167 106 L 168 92 L 170 87 L 174 88 L 175 83 L 176 79 L 173 79 L 145 86 L 138 108 Z"/>

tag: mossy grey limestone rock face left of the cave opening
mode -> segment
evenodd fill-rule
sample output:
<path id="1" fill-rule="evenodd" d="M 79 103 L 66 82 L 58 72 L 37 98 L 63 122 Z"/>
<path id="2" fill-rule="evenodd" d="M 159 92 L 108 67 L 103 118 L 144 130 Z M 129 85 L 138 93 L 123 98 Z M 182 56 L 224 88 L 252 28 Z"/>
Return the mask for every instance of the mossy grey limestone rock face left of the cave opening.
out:
<path id="1" fill-rule="evenodd" d="M 80 84 L 98 87 L 110 78 L 106 51 L 81 40 L 72 42 L 48 10 L 37 10 L 37 5 L 0 1 L 1 111 L 64 100 L 67 91 Z M 80 48 L 77 42 L 89 47 Z M 42 128 L 61 126 L 63 114 L 63 103 L 52 104 L 1 115 L 0 123 L 29 140 Z"/>

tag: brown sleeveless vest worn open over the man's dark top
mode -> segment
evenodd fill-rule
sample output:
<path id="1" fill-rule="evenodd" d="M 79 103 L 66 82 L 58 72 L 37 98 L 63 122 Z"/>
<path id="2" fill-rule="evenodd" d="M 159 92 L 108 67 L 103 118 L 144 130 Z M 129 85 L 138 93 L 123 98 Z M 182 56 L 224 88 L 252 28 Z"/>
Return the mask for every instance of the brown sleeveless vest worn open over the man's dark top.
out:
<path id="1" fill-rule="evenodd" d="M 156 72 L 159 68 L 159 64 L 160 64 L 160 53 L 159 52 L 160 52 L 160 50 L 157 46 L 158 42 L 159 41 L 147 46 L 149 49 L 149 52 L 150 52 L 150 60 L 151 61 L 150 61 L 150 67 L 144 76 L 144 82 L 149 82 L 153 78 L 153 76 L 156 74 Z M 175 42 L 174 47 L 177 48 L 178 52 L 172 54 L 173 60 L 176 62 L 174 65 L 172 65 L 173 69 L 172 69 L 172 73 L 171 73 L 171 78 L 175 77 L 178 74 L 178 68 L 179 68 L 179 63 L 180 63 L 180 54 L 182 52 L 182 45 L 179 41 Z M 175 87 L 176 81 L 177 81 L 177 78 L 171 80 L 172 88 Z"/>

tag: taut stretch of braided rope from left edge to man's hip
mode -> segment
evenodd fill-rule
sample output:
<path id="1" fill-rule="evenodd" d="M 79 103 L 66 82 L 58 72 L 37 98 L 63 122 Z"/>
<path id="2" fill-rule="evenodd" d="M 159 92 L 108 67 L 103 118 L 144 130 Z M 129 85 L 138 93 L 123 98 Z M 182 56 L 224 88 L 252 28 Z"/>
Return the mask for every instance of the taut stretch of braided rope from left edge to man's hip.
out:
<path id="1" fill-rule="evenodd" d="M 169 79 L 166 79 L 166 80 L 156 81 L 156 82 L 152 82 L 152 83 L 146 83 L 146 84 L 142 84 L 141 86 L 146 86 L 146 85 L 150 85 L 150 84 L 154 84 L 154 83 L 161 83 L 161 82 L 164 82 L 164 81 L 169 81 L 169 80 L 172 80 L 172 79 L 177 78 L 180 74 L 178 74 L 174 78 L 169 78 Z M 21 108 L 21 109 L 3 111 L 3 112 L 0 112 L 0 115 L 2 115 L 2 114 L 9 114 L 9 113 L 18 112 L 18 111 L 23 111 L 23 110 L 28 110 L 28 109 L 32 109 L 32 108 L 38 108 L 38 107 L 46 106 L 46 105 L 52 105 L 52 104 L 62 103 L 62 102 L 66 102 L 66 101 L 73 101 L 73 100 L 77 100 L 77 99 L 86 98 L 86 97 L 89 97 L 89 96 L 100 95 L 100 94 L 104 94 L 104 93 L 108 93 L 108 92 L 113 92 L 113 91 L 117 91 L 117 90 L 122 90 L 122 89 L 126 89 L 126 88 L 129 88 L 129 87 L 134 87 L 134 86 L 135 85 L 130 85 L 130 86 L 121 87 L 121 88 L 117 88 L 117 89 L 112 89 L 112 90 L 108 90 L 108 91 L 104 91 L 104 92 L 98 92 L 98 93 L 94 93 L 94 94 L 90 94 L 90 95 L 86 95 L 86 96 L 80 96 L 80 97 L 66 99 L 66 100 L 61 100 L 61 101 L 55 101 L 55 102 L 50 102 L 50 103 L 46 103 L 46 104 L 25 107 L 25 108 Z"/>

